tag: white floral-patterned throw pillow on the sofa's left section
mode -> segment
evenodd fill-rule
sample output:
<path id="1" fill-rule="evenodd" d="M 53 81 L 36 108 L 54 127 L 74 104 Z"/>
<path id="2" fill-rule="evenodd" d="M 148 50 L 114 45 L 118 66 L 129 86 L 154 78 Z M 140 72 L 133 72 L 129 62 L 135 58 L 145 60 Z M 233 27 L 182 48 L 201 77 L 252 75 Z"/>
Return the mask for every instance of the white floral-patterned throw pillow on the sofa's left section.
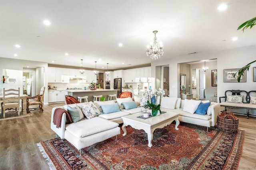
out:
<path id="1" fill-rule="evenodd" d="M 91 119 L 100 115 L 99 109 L 94 105 L 93 102 L 86 102 L 79 106 L 87 119 Z"/>

